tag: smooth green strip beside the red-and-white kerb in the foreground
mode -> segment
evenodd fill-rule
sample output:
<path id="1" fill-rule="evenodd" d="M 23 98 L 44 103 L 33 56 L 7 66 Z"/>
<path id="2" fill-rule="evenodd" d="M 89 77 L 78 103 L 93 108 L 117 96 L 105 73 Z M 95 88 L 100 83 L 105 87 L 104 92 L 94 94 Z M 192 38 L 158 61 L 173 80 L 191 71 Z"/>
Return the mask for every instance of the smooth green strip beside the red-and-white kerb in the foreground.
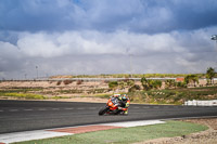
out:
<path id="1" fill-rule="evenodd" d="M 181 136 L 207 129 L 206 126 L 191 122 L 167 121 L 163 125 L 97 131 L 18 144 L 130 144 L 158 138 Z"/>

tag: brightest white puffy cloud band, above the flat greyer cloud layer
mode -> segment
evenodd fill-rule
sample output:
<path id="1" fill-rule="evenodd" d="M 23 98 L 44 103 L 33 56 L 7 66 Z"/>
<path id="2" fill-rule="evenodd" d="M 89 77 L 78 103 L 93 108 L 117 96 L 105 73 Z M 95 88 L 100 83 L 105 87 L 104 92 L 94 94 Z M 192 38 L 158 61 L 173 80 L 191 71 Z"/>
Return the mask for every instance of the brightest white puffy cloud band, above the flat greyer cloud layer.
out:
<path id="1" fill-rule="evenodd" d="M 65 54 L 133 54 L 146 52 L 182 52 L 173 34 L 145 35 L 127 31 L 67 31 L 63 34 L 22 34 L 17 40 L 28 56 L 55 57 Z"/>

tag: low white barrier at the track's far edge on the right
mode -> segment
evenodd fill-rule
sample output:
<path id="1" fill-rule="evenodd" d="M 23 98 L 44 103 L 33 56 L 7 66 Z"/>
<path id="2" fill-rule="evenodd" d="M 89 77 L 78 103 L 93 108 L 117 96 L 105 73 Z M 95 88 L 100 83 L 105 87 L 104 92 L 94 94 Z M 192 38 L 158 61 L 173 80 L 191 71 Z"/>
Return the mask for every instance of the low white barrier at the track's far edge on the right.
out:
<path id="1" fill-rule="evenodd" d="M 191 105 L 191 106 L 217 106 L 217 100 L 209 100 L 209 101 L 187 101 L 184 102 L 184 105 Z"/>

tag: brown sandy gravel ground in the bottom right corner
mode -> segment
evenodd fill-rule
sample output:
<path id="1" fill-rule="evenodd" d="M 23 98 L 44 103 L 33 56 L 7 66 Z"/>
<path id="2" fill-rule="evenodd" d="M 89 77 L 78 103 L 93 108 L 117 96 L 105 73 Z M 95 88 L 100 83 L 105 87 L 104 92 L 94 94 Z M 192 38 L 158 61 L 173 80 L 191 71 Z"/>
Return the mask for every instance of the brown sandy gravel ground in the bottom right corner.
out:
<path id="1" fill-rule="evenodd" d="M 188 119 L 182 121 L 208 126 L 208 130 L 176 138 L 162 138 L 137 144 L 217 144 L 217 118 Z"/>

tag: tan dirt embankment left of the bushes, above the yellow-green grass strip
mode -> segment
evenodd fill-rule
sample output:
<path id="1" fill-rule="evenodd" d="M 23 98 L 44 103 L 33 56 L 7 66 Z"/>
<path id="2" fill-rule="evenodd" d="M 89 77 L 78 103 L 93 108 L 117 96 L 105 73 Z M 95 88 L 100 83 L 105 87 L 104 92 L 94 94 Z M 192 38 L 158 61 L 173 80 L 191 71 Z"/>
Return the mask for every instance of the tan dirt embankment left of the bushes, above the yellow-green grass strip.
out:
<path id="1" fill-rule="evenodd" d="M 64 96 L 65 99 L 94 95 L 99 93 L 110 94 L 108 84 L 105 81 L 2 81 L 0 90 L 27 91 L 28 93 L 41 94 L 47 97 Z M 20 92 L 18 91 L 18 92 Z"/>

